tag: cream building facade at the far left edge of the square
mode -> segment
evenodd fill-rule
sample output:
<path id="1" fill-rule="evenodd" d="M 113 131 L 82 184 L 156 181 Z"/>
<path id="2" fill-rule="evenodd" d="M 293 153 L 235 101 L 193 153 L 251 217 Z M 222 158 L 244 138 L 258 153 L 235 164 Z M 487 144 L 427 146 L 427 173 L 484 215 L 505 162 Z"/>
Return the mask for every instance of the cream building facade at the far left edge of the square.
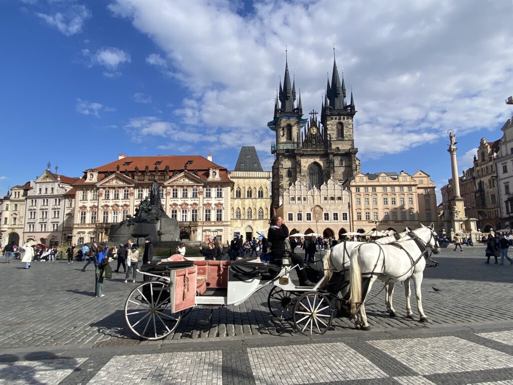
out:
<path id="1" fill-rule="evenodd" d="M 25 204 L 31 182 L 14 186 L 0 203 L 0 245 L 13 241 L 16 245 L 23 243 Z"/>

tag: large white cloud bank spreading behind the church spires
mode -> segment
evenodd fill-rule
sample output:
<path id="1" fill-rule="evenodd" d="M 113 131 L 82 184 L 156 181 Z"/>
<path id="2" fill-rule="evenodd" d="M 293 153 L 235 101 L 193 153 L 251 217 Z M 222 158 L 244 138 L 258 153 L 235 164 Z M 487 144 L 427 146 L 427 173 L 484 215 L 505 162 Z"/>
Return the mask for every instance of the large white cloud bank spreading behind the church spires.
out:
<path id="1" fill-rule="evenodd" d="M 160 47 L 146 62 L 189 89 L 174 114 L 191 132 L 202 126 L 209 148 L 249 140 L 269 153 L 266 123 L 286 44 L 305 112 L 320 111 L 335 44 L 348 93 L 353 85 L 361 159 L 438 141 L 447 128 L 462 137 L 507 119 L 497 109 L 513 89 L 506 2 L 476 12 L 472 2 L 441 0 L 262 0 L 245 15 L 228 0 L 184 4 L 115 0 L 109 9 Z"/>

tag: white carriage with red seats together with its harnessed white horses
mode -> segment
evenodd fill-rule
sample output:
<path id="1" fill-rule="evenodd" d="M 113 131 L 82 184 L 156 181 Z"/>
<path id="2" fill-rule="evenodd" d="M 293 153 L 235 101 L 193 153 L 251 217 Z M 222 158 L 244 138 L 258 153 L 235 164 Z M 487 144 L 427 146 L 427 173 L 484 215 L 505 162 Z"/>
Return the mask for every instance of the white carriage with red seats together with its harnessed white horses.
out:
<path id="1" fill-rule="evenodd" d="M 342 256 L 333 258 L 334 247 L 331 250 L 331 256 L 329 254 L 325 256 L 325 274 L 323 272 L 318 274 L 315 269 L 309 272 L 310 280 L 313 279 L 312 274 L 317 275 L 315 280 L 317 283 L 313 287 L 299 286 L 292 282 L 291 272 L 295 266 L 291 266 L 287 255 L 283 257 L 281 266 L 249 260 L 189 261 L 180 255 L 170 257 L 169 261 L 152 262 L 143 265 L 140 269 L 145 277 L 152 280 L 135 287 L 129 294 L 124 308 L 125 320 L 128 328 L 137 337 L 159 340 L 171 334 L 184 314 L 192 307 L 238 305 L 267 286 L 271 287 L 268 306 L 273 316 L 284 320 L 292 319 L 296 330 L 300 333 L 324 334 L 330 328 L 333 319 L 332 303 L 335 301 L 340 305 L 344 301 L 341 300 L 339 292 L 342 296 L 347 293 L 344 298 L 346 300 L 349 298 L 348 278 L 351 276 L 351 290 L 352 285 L 357 290 L 354 291 L 356 294 L 350 292 L 351 299 L 345 305 L 347 309 L 352 305 L 353 313 L 356 313 L 356 307 L 360 308 L 361 324 L 365 329 L 367 320 L 363 303 L 367 292 L 364 290 L 362 293 L 361 279 L 357 280 L 356 274 L 360 278 L 362 276 L 369 278 L 369 289 L 376 279 L 381 279 L 388 284 L 387 309 L 389 312 L 393 312 L 391 307 L 393 283 L 412 278 L 416 282 L 416 292 L 420 294 L 422 271 L 426 265 L 424 259 L 428 257 L 427 247 L 435 250 L 438 248 L 438 242 L 436 234 L 429 227 L 417 230 L 408 232 L 403 238 L 393 242 L 394 246 L 390 246 L 391 251 L 396 249 L 401 251 L 393 255 L 393 258 L 401 261 L 399 264 L 389 260 L 387 254 L 391 251 L 388 245 L 379 245 L 380 252 L 370 259 L 367 257 L 368 246 L 364 247 L 361 242 L 345 242 L 340 244 L 342 246 L 335 246 L 339 249 L 343 248 Z M 401 242 L 404 245 L 401 245 Z M 386 252 L 383 251 L 384 249 Z M 407 262 L 403 263 L 405 258 Z M 371 265 L 367 271 L 369 263 Z M 358 273 L 348 274 L 352 273 L 351 264 L 358 265 Z M 407 302 L 409 307 L 408 294 Z M 422 319 L 425 315 L 420 302 L 419 311 Z M 408 315 L 410 312 L 411 310 Z"/>

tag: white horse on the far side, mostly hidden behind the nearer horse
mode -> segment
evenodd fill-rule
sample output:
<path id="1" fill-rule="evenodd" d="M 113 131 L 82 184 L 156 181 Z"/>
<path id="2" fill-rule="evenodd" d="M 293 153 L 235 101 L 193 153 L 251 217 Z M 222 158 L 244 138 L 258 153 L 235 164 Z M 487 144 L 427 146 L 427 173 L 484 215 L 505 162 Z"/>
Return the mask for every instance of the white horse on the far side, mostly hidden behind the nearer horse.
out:
<path id="1" fill-rule="evenodd" d="M 403 232 L 396 236 L 391 235 L 382 237 L 374 242 L 380 244 L 388 244 L 406 236 L 407 234 L 408 232 Z M 336 295 L 338 292 L 340 292 L 342 297 L 348 300 L 349 298 L 346 298 L 346 295 L 349 290 L 349 256 L 351 255 L 353 248 L 365 243 L 366 242 L 344 241 L 334 245 L 331 249 L 329 249 L 324 255 L 324 281 L 321 284 L 321 287 L 329 283 L 328 287 L 326 288 L 329 293 Z M 334 278 L 333 282 L 330 282 L 332 277 Z M 393 295 L 393 285 L 390 292 Z M 389 295 L 389 290 L 385 292 L 385 303 L 389 314 L 391 316 L 392 314 L 395 316 L 395 312 L 391 304 L 391 296 Z M 349 315 L 342 308 L 339 302 L 337 302 L 337 309 L 339 315 Z"/>

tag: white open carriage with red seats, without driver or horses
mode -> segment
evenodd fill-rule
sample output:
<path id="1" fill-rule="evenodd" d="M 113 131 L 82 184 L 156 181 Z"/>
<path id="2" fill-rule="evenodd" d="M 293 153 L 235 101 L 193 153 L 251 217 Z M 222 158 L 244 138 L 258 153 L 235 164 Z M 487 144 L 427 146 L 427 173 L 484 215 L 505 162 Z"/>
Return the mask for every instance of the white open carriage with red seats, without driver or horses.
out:
<path id="1" fill-rule="evenodd" d="M 251 261 L 188 261 L 173 256 L 169 262 L 141 267 L 146 281 L 125 302 L 128 328 L 139 338 L 163 339 L 198 305 L 238 305 L 266 286 L 271 314 L 291 319 L 298 332 L 324 334 L 333 319 L 331 297 L 313 287 L 297 286 L 290 277 L 294 266 L 285 256 L 281 266 Z"/>

